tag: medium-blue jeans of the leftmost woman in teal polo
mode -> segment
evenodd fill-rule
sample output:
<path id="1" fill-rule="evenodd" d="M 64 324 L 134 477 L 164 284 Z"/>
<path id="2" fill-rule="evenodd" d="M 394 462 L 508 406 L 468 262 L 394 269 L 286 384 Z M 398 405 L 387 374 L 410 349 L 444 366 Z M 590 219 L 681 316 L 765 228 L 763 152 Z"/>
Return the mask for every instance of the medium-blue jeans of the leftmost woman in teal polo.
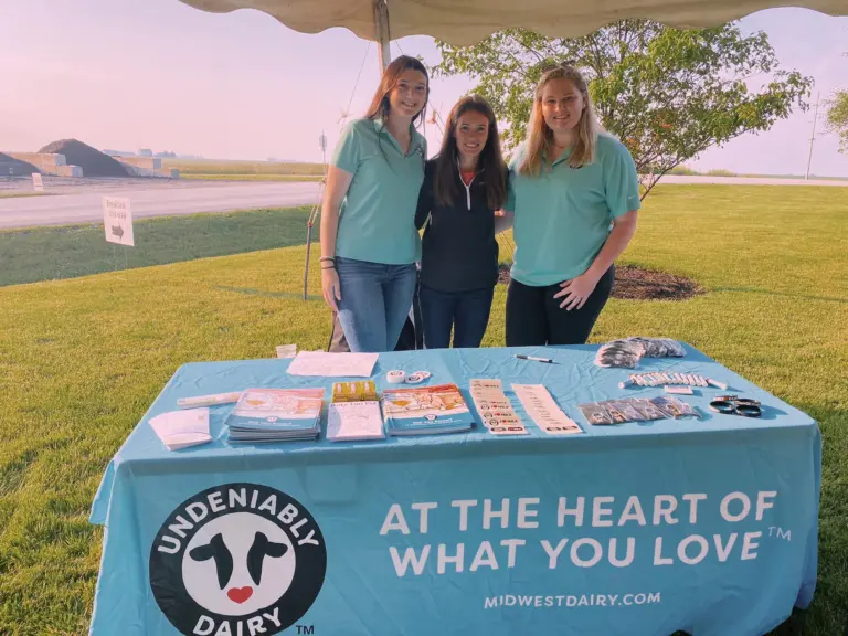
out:
<path id="1" fill-rule="evenodd" d="M 339 322 L 353 352 L 393 351 L 410 315 L 415 264 L 384 265 L 336 257 Z"/>

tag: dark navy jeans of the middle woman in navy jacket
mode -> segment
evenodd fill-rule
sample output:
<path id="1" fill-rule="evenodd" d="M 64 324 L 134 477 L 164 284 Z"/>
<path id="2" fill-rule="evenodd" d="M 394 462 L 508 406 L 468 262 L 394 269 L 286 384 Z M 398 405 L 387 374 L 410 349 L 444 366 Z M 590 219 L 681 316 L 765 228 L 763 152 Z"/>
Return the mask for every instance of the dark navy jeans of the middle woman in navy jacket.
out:
<path id="1" fill-rule="evenodd" d="M 437 292 L 421 286 L 418 300 L 424 327 L 426 349 L 451 347 L 451 329 L 454 330 L 454 347 L 475 348 L 480 346 L 489 324 L 491 299 L 495 287 L 473 292 Z"/>

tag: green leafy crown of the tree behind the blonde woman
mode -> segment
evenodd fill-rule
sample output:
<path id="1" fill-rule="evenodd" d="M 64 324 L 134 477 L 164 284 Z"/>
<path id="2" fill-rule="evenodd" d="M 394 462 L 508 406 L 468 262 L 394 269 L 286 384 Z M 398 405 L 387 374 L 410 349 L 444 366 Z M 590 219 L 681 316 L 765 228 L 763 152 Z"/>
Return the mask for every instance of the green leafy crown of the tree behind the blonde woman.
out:
<path id="1" fill-rule="evenodd" d="M 581 68 L 602 125 L 633 155 L 643 198 L 669 170 L 711 146 L 767 130 L 794 107 L 806 110 L 813 85 L 810 77 L 778 67 L 765 33 L 743 35 L 736 23 L 679 30 L 624 20 L 583 38 L 510 29 L 469 47 L 436 44 L 442 61 L 434 75 L 477 82 L 474 92 L 507 125 L 508 150 L 524 138 L 541 74 L 563 62 Z"/>

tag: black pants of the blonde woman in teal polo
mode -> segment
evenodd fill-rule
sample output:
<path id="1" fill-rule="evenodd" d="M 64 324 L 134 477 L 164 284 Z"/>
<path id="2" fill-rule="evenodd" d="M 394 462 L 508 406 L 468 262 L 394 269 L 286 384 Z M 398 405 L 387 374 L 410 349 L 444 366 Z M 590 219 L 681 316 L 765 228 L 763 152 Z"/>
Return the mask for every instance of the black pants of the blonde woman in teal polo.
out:
<path id="1" fill-rule="evenodd" d="M 507 292 L 507 347 L 541 344 L 584 344 L 601 310 L 610 299 L 615 280 L 615 265 L 597 282 L 580 309 L 560 309 L 562 298 L 553 295 L 559 285 L 530 287 L 509 282 Z"/>

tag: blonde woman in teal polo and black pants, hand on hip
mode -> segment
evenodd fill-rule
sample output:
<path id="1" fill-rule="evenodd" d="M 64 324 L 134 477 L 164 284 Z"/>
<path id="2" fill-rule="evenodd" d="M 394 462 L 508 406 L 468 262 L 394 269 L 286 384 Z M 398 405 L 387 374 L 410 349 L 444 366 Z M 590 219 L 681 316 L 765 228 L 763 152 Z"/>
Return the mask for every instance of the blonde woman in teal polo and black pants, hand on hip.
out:
<path id="1" fill-rule="evenodd" d="M 528 138 L 510 163 L 516 253 L 507 346 L 582 344 L 636 231 L 639 182 L 627 148 L 600 130 L 580 71 L 540 81 Z"/>

